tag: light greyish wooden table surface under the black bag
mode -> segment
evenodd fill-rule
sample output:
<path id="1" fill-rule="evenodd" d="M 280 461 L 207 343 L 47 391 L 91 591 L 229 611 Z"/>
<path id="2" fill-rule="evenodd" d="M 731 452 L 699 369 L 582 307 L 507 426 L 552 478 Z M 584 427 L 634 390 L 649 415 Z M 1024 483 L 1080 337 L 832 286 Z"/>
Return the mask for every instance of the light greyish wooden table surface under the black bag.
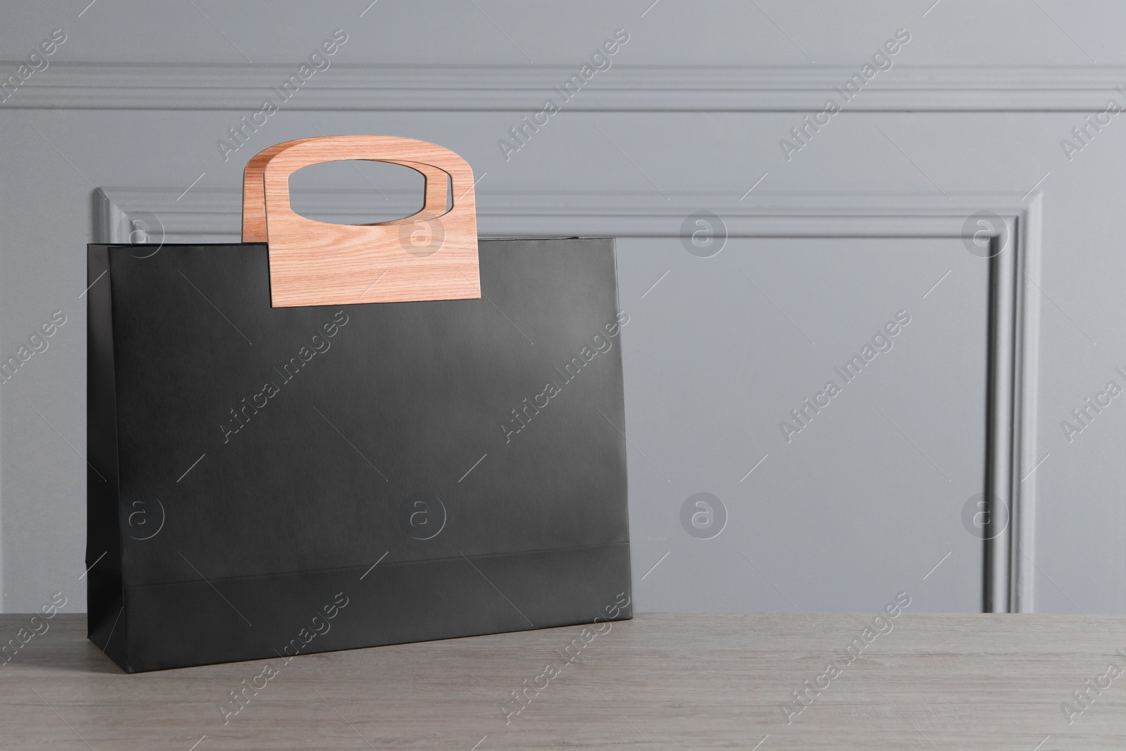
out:
<path id="1" fill-rule="evenodd" d="M 224 724 L 265 662 L 127 676 L 61 614 L 0 668 L 0 748 L 1126 749 L 1126 674 L 1108 673 L 1126 616 L 905 613 L 866 643 L 873 615 L 641 615 L 573 662 L 579 627 L 274 660 Z M 28 618 L 0 616 L 0 636 Z M 826 687 L 787 723 L 806 679 Z"/>

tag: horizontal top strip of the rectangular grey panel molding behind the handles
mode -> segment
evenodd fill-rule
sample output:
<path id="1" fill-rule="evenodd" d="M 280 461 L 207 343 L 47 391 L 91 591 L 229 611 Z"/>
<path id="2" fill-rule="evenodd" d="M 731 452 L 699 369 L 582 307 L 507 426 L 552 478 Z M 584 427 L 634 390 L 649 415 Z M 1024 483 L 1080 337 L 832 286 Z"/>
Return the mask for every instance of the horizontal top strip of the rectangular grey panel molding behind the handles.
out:
<path id="1" fill-rule="evenodd" d="M 169 242 L 238 242 L 242 191 L 238 188 L 100 188 L 119 216 L 155 215 Z M 410 191 L 378 194 L 346 189 L 310 190 L 303 205 L 327 222 L 370 222 L 373 212 L 405 216 L 420 207 Z M 1038 194 L 1036 194 L 1038 195 Z M 1016 216 L 1020 196 L 963 193 L 946 200 L 932 194 L 770 194 L 740 200 L 731 193 L 596 190 L 483 190 L 476 193 L 481 236 L 597 235 L 674 238 L 685 217 L 698 211 L 718 215 L 732 238 L 957 238 L 965 218 L 978 211 Z M 1006 211 L 998 211 L 997 207 Z M 108 211 L 108 209 L 107 209 Z M 801 220 L 795 221 L 795 220 Z M 101 227 L 107 227 L 105 222 Z M 108 227 L 107 227 L 108 230 Z M 96 234 L 109 241 L 107 230 Z M 114 235 L 124 241 L 128 234 Z"/>

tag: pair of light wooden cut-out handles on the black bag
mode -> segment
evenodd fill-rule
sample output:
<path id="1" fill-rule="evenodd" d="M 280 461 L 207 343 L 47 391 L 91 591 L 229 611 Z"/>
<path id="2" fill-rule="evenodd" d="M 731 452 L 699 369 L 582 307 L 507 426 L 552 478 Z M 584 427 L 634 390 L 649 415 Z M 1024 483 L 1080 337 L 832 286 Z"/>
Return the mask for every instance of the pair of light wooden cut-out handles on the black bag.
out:
<path id="1" fill-rule="evenodd" d="M 289 176 L 321 162 L 364 159 L 426 177 L 422 209 L 374 224 L 329 224 L 289 206 Z M 453 207 L 447 211 L 447 185 Z M 275 307 L 464 299 L 481 296 L 473 170 L 441 146 L 351 135 L 289 141 L 243 173 L 243 242 L 267 242 Z"/>

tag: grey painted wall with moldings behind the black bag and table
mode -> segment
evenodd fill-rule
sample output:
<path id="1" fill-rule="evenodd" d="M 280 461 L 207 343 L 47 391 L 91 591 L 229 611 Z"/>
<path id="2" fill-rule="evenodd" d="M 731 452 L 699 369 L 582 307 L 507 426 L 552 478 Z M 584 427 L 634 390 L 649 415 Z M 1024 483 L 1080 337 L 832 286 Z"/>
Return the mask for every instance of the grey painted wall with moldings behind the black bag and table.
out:
<path id="1" fill-rule="evenodd" d="M 1024 229 L 1040 249 L 1027 283 L 1030 310 L 1040 309 L 1029 321 L 1039 365 L 1017 477 L 1027 501 L 1021 607 L 1126 610 L 1126 417 L 1114 400 L 1080 432 L 1061 428 L 1108 381 L 1126 385 L 1115 372 L 1126 368 L 1126 126 L 1114 117 L 1085 144 L 1071 134 L 1108 99 L 1126 106 L 1115 88 L 1126 86 L 1120 6 L 0 9 L 3 77 L 55 29 L 66 35 L 50 65 L 0 102 L 0 355 L 54 311 L 66 315 L 47 350 L 0 386 L 5 611 L 60 590 L 84 607 L 84 244 L 142 213 L 168 240 L 234 239 L 245 160 L 318 133 L 454 149 L 480 179 L 483 235 L 622 238 L 643 610 L 869 609 L 900 590 L 920 609 L 981 607 L 982 545 L 962 513 L 986 466 L 988 284 L 957 234 L 982 208 L 1034 212 L 1038 224 Z M 331 66 L 224 160 L 216 142 L 227 128 L 277 101 L 271 87 L 338 28 L 348 41 Z M 616 29 L 629 41 L 613 66 L 506 159 L 498 141 L 545 97 L 558 100 L 552 87 Z M 897 29 L 911 39 L 893 68 L 787 160 L 779 140 Z M 1062 138 L 1083 147 L 1069 159 Z M 372 221 L 417 200 L 417 185 L 392 170 L 338 168 L 302 176 L 298 205 Z M 698 211 L 730 235 L 711 258 L 681 238 Z M 900 310 L 912 323 L 893 350 L 786 442 L 778 422 Z M 680 522 L 697 492 L 726 508 L 712 539 Z"/>

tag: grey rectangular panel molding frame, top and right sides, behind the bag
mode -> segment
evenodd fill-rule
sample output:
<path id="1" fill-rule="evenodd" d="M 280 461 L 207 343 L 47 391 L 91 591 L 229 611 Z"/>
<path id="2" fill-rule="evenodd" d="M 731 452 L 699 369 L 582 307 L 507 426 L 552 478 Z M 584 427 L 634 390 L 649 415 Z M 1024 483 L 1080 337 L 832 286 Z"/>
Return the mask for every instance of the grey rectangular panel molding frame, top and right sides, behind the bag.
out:
<path id="1" fill-rule="evenodd" d="M 95 238 L 125 242 L 142 222 L 168 242 L 238 242 L 241 195 L 179 188 L 99 188 Z M 744 196 L 745 197 L 745 196 Z M 187 197 L 185 197 L 187 198 Z M 355 191 L 311 191 L 323 221 L 365 221 L 370 202 Z M 390 193 L 388 211 L 411 213 L 417 196 Z M 983 542 L 985 613 L 1035 609 L 1037 370 L 1039 355 L 1043 194 L 729 194 L 622 191 L 481 191 L 482 236 L 593 235 L 678 238 L 688 214 L 711 211 L 729 238 L 963 239 L 968 220 L 992 212 L 1003 222 L 990 233 L 986 493 L 1008 507 L 1001 529 Z M 154 222 L 155 220 L 155 222 Z M 366 220 L 370 221 L 370 220 Z M 995 516 L 995 515 L 994 515 Z"/>

